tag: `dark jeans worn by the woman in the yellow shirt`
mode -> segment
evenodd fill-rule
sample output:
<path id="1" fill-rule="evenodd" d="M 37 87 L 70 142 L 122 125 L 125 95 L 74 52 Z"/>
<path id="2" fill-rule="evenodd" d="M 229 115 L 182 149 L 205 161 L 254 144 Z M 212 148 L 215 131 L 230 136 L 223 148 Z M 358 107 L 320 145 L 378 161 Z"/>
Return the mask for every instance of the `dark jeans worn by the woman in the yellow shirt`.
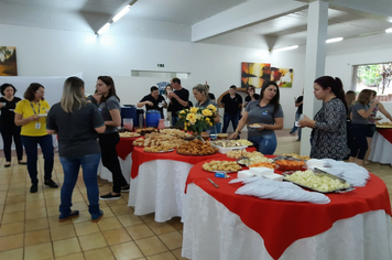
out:
<path id="1" fill-rule="evenodd" d="M 54 152 L 53 152 L 53 140 L 52 136 L 43 137 L 26 137 L 21 136 L 22 143 L 24 145 L 25 153 L 28 155 L 28 171 L 32 184 L 39 184 L 39 178 L 36 177 L 39 172 L 36 170 L 36 161 L 39 159 L 37 144 L 40 144 L 42 153 L 44 155 L 44 178 L 48 181 L 52 178 L 53 163 L 54 163 Z"/>

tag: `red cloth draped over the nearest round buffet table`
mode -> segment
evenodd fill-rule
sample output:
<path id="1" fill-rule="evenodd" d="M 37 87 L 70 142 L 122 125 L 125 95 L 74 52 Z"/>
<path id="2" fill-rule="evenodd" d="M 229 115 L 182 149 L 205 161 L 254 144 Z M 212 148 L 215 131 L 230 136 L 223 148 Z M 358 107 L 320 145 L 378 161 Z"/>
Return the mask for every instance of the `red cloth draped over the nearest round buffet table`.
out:
<path id="1" fill-rule="evenodd" d="M 243 224 L 263 238 L 273 259 L 279 259 L 294 241 L 324 232 L 339 219 L 378 209 L 384 209 L 391 215 L 386 186 L 373 174 L 366 187 L 357 187 L 344 194 L 328 194 L 330 203 L 319 205 L 236 195 L 235 192 L 241 184 L 228 182 L 237 177 L 237 173 L 230 174 L 231 178 L 218 178 L 202 170 L 203 163 L 205 162 L 195 164 L 190 170 L 186 184 L 196 184 L 237 214 Z M 213 186 L 207 177 L 214 180 L 219 188 Z"/>

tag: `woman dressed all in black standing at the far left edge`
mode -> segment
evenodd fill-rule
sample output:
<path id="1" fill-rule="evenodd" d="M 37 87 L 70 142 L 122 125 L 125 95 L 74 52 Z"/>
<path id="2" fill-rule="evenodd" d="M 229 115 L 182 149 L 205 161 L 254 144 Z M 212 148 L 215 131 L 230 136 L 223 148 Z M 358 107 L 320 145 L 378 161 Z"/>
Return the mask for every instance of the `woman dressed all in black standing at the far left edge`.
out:
<path id="1" fill-rule="evenodd" d="M 22 162 L 23 159 L 23 147 L 21 141 L 21 127 L 17 127 L 14 122 L 15 113 L 13 110 L 17 107 L 17 102 L 21 99 L 15 97 L 14 94 L 17 91 L 15 87 L 11 84 L 3 84 L 0 87 L 0 91 L 2 97 L 0 98 L 0 131 L 3 141 L 3 151 L 6 156 L 4 167 L 11 166 L 11 144 L 12 137 L 15 142 L 17 155 L 19 164 L 25 164 Z"/>

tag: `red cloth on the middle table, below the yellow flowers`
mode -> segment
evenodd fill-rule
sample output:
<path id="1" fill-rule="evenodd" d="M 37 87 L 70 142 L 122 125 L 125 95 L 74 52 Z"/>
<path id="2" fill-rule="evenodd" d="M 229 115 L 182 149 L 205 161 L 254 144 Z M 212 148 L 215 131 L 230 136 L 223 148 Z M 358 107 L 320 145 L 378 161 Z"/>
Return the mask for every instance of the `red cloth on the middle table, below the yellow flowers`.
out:
<path id="1" fill-rule="evenodd" d="M 253 152 L 255 151 L 254 147 L 247 148 L 247 151 Z M 139 174 L 139 166 L 145 162 L 154 161 L 154 160 L 173 160 L 179 162 L 186 162 L 190 164 L 195 164 L 205 160 L 228 160 L 229 158 L 222 153 L 215 153 L 211 155 L 205 156 L 193 156 L 193 155 L 182 155 L 174 150 L 173 152 L 165 153 L 149 153 L 144 152 L 143 148 L 135 147 L 132 153 L 132 170 L 131 177 L 135 178 Z"/>

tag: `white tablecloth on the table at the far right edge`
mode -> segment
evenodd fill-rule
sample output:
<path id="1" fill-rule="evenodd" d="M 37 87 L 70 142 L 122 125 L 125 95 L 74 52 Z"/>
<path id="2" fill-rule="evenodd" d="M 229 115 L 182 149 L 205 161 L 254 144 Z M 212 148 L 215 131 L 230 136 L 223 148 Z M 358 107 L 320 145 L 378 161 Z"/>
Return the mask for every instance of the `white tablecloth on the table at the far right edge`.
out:
<path id="1" fill-rule="evenodd" d="M 369 160 L 392 165 L 391 154 L 392 144 L 381 133 L 375 131 L 371 141 Z"/>

